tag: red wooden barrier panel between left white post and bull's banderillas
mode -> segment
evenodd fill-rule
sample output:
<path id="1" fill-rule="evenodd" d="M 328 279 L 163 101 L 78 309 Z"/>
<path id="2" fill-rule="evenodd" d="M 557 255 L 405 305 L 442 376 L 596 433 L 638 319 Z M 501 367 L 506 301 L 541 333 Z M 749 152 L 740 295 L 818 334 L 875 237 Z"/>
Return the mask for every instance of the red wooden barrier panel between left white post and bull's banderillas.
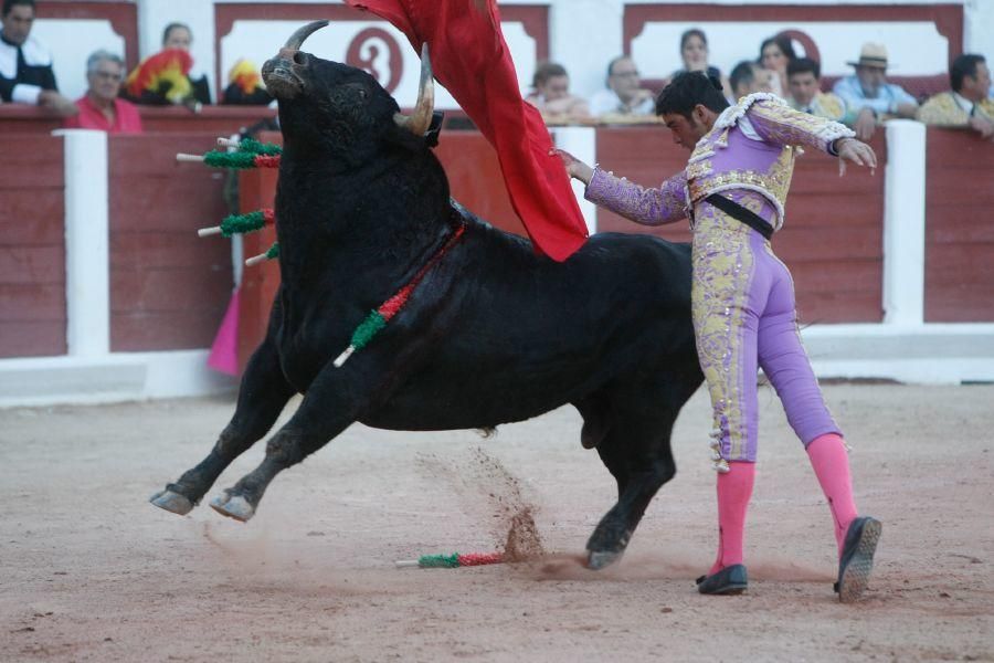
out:
<path id="1" fill-rule="evenodd" d="M 232 290 L 229 243 L 197 229 L 229 213 L 225 171 L 178 164 L 213 133 L 112 136 L 110 350 L 209 347 Z"/>

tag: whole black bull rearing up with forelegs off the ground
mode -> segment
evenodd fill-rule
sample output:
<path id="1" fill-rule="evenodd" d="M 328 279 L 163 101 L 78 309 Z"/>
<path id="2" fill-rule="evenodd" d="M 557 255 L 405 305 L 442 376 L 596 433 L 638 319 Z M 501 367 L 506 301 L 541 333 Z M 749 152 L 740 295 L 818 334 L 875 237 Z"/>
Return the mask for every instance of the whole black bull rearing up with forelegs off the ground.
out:
<path id="1" fill-rule="evenodd" d="M 210 454 L 152 496 L 186 514 L 276 421 L 265 460 L 215 497 L 247 520 L 269 482 L 349 424 L 483 429 L 564 403 L 583 417 L 617 481 L 618 501 L 588 541 L 600 568 L 625 549 L 675 472 L 670 433 L 701 382 L 685 244 L 596 234 L 564 263 L 453 204 L 424 138 L 427 54 L 419 107 L 398 113 L 367 73 L 299 51 L 299 30 L 263 75 L 279 101 L 284 152 L 276 193 L 282 285 L 237 408 Z M 341 368 L 332 360 L 371 309 L 406 284 L 464 224 L 410 303 Z"/>

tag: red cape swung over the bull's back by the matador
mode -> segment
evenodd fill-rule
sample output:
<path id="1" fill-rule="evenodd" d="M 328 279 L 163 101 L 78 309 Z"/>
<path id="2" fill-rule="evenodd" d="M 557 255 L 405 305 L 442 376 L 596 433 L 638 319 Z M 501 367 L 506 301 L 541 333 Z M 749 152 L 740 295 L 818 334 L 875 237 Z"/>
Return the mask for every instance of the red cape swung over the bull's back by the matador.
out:
<path id="1" fill-rule="evenodd" d="M 521 98 L 495 0 L 346 0 L 390 21 L 497 150 L 511 204 L 536 250 L 563 261 L 586 224 L 539 112 Z M 485 6 L 485 7 L 484 7 Z"/>

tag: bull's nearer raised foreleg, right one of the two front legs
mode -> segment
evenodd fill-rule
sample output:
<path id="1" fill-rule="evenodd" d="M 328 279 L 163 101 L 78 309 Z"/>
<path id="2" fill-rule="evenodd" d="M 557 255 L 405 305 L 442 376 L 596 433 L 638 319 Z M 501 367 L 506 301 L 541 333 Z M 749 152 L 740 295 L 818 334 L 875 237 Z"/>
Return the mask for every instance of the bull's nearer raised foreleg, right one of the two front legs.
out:
<path id="1" fill-rule="evenodd" d="M 342 368 L 329 362 L 321 369 L 293 418 L 269 438 L 263 462 L 211 499 L 211 508 L 243 523 L 248 520 L 279 472 L 327 444 L 359 419 L 366 408 L 387 398 L 400 376 L 378 368 L 377 358 L 370 350 L 366 352 Z M 388 373 L 390 378 L 384 380 L 382 376 Z"/>

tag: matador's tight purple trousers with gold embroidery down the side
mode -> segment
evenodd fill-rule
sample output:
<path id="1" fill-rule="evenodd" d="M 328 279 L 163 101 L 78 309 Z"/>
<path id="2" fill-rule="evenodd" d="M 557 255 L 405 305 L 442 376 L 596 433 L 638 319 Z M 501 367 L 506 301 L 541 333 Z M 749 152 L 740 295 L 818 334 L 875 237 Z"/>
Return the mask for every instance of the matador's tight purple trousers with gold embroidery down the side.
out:
<path id="1" fill-rule="evenodd" d="M 759 194 L 730 198 L 763 218 Z M 695 207 L 691 307 L 697 350 L 713 411 L 711 436 L 726 461 L 755 462 L 762 368 L 807 446 L 842 432 L 825 406 L 801 343 L 791 273 L 760 233 L 699 202 Z"/>

